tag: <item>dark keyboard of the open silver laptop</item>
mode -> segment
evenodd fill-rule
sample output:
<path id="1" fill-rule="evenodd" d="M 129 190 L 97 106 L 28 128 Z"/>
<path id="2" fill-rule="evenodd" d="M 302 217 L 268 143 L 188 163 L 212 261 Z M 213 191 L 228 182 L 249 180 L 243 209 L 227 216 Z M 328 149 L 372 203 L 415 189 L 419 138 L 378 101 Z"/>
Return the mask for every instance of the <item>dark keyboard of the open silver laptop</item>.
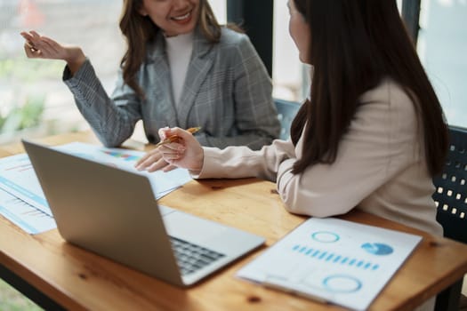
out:
<path id="1" fill-rule="evenodd" d="M 173 236 L 170 236 L 170 242 L 172 242 L 172 248 L 180 267 L 181 275 L 189 275 L 213 263 L 215 260 L 225 257 L 220 252 L 211 251 L 205 247 Z"/>

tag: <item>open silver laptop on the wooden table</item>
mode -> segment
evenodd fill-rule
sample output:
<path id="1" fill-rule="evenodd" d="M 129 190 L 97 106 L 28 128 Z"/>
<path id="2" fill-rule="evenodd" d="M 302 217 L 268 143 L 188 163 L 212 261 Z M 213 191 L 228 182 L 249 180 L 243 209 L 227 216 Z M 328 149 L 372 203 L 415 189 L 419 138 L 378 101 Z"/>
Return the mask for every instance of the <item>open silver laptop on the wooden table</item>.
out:
<path id="1" fill-rule="evenodd" d="M 264 243 L 261 236 L 158 206 L 146 176 L 22 143 L 69 243 L 179 286 Z"/>

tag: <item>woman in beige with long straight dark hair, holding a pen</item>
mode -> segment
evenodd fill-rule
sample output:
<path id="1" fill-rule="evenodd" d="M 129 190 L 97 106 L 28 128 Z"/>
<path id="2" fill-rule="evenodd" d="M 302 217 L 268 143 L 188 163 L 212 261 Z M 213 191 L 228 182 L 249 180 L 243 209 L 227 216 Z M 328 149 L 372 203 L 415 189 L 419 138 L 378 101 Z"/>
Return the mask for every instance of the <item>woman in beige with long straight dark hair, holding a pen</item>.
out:
<path id="1" fill-rule="evenodd" d="M 290 34 L 312 66 L 309 99 L 291 139 L 260 151 L 202 148 L 179 128 L 165 161 L 198 179 L 277 182 L 288 211 L 314 217 L 354 208 L 442 235 L 431 195 L 447 124 L 395 0 L 289 0 Z M 149 161 L 150 162 L 150 161 Z M 149 163 L 142 163 L 145 169 Z M 433 300 L 423 305 L 430 310 Z"/>

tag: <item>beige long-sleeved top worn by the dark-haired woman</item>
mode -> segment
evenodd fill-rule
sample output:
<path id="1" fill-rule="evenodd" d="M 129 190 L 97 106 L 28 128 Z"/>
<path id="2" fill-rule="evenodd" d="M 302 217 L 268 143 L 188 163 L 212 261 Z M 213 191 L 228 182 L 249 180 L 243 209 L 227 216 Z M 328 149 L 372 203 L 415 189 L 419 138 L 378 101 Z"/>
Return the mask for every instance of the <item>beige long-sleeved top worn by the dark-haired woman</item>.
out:
<path id="1" fill-rule="evenodd" d="M 431 198 L 422 130 L 412 100 L 399 84 L 385 79 L 361 96 L 362 105 L 332 164 L 316 164 L 292 174 L 306 142 L 274 140 L 253 151 L 246 147 L 205 148 L 202 171 L 193 177 L 259 177 L 277 182 L 286 209 L 329 217 L 354 207 L 442 235 Z"/>

